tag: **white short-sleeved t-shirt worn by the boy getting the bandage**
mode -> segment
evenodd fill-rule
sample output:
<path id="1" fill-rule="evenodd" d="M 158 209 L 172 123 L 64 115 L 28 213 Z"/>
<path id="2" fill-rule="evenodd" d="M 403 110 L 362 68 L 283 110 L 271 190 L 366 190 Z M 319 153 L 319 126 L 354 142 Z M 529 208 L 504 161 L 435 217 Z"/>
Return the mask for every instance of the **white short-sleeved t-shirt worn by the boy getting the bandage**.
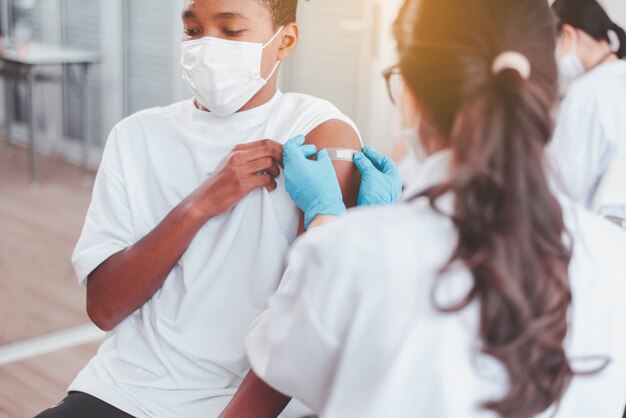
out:
<path id="1" fill-rule="evenodd" d="M 140 112 L 107 142 L 73 256 L 81 285 L 152 231 L 238 144 L 285 143 L 329 120 L 356 127 L 327 101 L 277 92 L 220 118 L 193 100 Z M 249 370 L 244 337 L 278 287 L 299 211 L 284 178 L 211 219 L 143 307 L 125 319 L 68 391 L 137 417 L 216 417 Z"/>

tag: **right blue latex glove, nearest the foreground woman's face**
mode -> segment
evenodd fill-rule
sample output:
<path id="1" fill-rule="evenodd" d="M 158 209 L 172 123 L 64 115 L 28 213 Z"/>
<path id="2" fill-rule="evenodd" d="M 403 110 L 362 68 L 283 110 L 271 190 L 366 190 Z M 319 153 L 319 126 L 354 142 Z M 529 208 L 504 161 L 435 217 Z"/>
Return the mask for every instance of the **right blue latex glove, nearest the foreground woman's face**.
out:
<path id="1" fill-rule="evenodd" d="M 359 206 L 391 205 L 400 199 L 402 178 L 389 157 L 365 147 L 354 155 L 354 163 L 363 176 Z"/>

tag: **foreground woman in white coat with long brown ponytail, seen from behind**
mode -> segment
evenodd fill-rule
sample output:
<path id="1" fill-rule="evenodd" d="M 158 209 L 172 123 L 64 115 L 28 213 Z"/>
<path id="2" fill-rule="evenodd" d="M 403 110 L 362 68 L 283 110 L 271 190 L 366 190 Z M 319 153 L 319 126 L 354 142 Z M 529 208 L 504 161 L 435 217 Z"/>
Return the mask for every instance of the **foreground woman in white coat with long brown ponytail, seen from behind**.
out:
<path id="1" fill-rule="evenodd" d="M 395 35 L 429 158 L 404 203 L 296 243 L 223 416 L 275 416 L 291 396 L 322 417 L 621 416 L 626 236 L 550 187 L 547 3 L 407 0 Z M 285 150 L 305 212 L 341 200 L 311 151 Z"/>

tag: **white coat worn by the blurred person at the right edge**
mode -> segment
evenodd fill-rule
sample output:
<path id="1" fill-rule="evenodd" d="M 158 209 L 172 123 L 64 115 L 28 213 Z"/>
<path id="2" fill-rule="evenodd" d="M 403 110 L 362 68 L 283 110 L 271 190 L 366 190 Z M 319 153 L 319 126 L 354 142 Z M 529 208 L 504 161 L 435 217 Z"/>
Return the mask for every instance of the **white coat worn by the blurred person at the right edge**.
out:
<path id="1" fill-rule="evenodd" d="M 593 209 L 607 168 L 626 157 L 626 61 L 600 65 L 572 83 L 548 151 L 565 192 Z M 620 189 L 626 195 L 626 177 Z M 626 208 L 612 214 L 626 218 Z"/>

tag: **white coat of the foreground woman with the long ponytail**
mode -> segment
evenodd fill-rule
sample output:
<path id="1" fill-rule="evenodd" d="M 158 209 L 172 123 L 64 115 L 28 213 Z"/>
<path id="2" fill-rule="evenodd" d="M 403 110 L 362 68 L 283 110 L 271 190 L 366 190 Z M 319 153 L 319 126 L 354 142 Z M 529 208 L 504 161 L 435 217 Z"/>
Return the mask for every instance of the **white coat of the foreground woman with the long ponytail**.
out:
<path id="1" fill-rule="evenodd" d="M 410 192 L 443 181 L 450 160 L 447 152 L 429 158 Z M 441 204 L 452 207 L 445 197 Z M 600 374 L 576 377 L 556 417 L 621 417 L 626 234 L 573 204 L 563 208 L 575 241 L 566 349 L 571 358 L 607 355 L 612 362 Z M 449 218 L 425 199 L 356 210 L 310 231 L 247 338 L 253 369 L 324 418 L 494 418 L 480 405 L 502 397 L 508 381 L 501 364 L 480 352 L 478 303 L 443 314 L 431 300 L 456 241 Z M 460 300 L 471 282 L 457 265 L 438 301 Z"/>

